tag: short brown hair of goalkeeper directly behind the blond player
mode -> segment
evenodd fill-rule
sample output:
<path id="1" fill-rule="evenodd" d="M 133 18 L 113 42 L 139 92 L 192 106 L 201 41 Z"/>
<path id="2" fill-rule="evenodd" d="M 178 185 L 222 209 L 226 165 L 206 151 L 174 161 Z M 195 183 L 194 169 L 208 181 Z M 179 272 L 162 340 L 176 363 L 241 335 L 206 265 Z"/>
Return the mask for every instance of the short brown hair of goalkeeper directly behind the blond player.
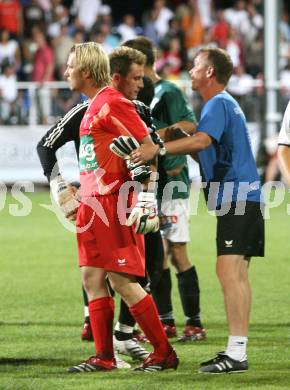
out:
<path id="1" fill-rule="evenodd" d="M 121 46 L 109 55 L 111 75 L 120 73 L 126 76 L 132 64 L 145 65 L 146 57 L 143 53 L 131 47 Z"/>

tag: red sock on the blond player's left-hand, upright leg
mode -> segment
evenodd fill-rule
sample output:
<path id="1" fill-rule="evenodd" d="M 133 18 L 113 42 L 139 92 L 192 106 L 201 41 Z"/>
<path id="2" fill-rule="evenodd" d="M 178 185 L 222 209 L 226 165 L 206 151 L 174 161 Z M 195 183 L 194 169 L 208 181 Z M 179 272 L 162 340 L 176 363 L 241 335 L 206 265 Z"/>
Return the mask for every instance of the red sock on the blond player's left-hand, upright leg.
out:
<path id="1" fill-rule="evenodd" d="M 96 354 L 110 360 L 113 350 L 114 300 L 112 297 L 97 298 L 89 302 L 90 323 Z"/>

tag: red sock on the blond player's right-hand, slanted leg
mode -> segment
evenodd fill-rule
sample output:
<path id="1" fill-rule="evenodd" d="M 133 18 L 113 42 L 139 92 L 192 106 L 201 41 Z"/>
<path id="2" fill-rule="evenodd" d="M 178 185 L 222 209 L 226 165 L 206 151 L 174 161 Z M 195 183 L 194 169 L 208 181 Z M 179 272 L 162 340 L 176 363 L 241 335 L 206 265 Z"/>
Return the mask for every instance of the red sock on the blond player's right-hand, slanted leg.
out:
<path id="1" fill-rule="evenodd" d="M 171 346 L 168 343 L 167 336 L 159 319 L 155 303 L 150 295 L 146 295 L 134 306 L 131 306 L 130 312 L 138 322 L 140 328 L 154 347 L 157 355 L 168 355 Z"/>

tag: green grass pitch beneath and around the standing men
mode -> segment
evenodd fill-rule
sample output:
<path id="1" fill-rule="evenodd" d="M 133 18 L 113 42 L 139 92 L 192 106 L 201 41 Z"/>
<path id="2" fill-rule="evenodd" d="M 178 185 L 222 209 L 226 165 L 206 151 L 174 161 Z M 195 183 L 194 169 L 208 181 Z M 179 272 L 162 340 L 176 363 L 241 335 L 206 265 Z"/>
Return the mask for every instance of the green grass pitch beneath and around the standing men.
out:
<path id="1" fill-rule="evenodd" d="M 11 215 L 15 213 L 11 204 L 20 210 L 22 205 L 10 195 L 2 195 L 1 390 L 290 388 L 289 194 L 284 203 L 270 210 L 266 221 L 266 258 L 254 259 L 251 264 L 250 370 L 223 376 L 197 374 L 199 363 L 223 349 L 227 340 L 222 294 L 215 276 L 215 218 L 207 213 L 202 201 L 198 215 L 191 218 L 189 252 L 199 273 L 207 340 L 186 345 L 173 340 L 181 361 L 174 372 L 138 374 L 119 370 L 70 375 L 66 372 L 68 366 L 93 354 L 92 343 L 80 341 L 83 309 L 74 234 L 40 206 L 49 204 L 47 192 L 29 195 L 32 210 L 26 216 Z M 173 299 L 181 332 L 184 319 L 175 283 Z"/>

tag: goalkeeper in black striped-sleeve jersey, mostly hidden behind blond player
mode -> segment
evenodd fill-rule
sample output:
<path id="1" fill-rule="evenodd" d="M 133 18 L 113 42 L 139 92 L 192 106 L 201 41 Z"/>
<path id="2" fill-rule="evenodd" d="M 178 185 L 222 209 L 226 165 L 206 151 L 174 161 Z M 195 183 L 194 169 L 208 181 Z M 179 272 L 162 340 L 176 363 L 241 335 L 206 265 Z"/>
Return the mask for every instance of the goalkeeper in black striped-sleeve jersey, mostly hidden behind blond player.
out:
<path id="1" fill-rule="evenodd" d="M 150 103 L 154 90 L 150 80 L 140 76 L 140 74 L 134 72 L 132 64 L 134 65 L 134 59 L 128 59 L 126 53 L 122 54 L 122 49 L 116 49 L 110 56 L 110 66 L 112 74 L 112 86 L 124 94 L 129 100 L 136 99 L 137 94 L 140 92 L 140 96 L 145 102 Z M 145 88 L 141 89 L 145 84 Z M 152 126 L 152 118 L 150 109 L 140 101 L 135 101 L 135 106 L 141 119 L 150 128 L 151 136 L 154 142 L 160 142 L 158 135 L 154 133 L 154 127 Z M 59 122 L 51 127 L 44 137 L 37 145 L 37 152 L 40 158 L 43 171 L 48 181 L 51 183 L 54 178 L 51 177 L 52 171 L 58 173 L 56 151 L 62 147 L 65 143 L 73 141 L 75 143 L 76 152 L 79 151 L 79 127 L 80 122 L 84 116 L 88 107 L 88 102 L 84 102 L 73 107 Z M 147 169 L 134 171 L 132 168 L 132 176 L 136 180 L 142 181 L 142 175 L 146 177 Z M 140 177 L 141 176 L 141 177 Z M 74 188 L 72 186 L 72 188 Z M 66 213 L 69 218 L 73 217 L 75 210 L 67 210 Z M 73 219 L 73 218 L 71 218 Z M 151 289 L 156 286 L 159 278 L 162 274 L 162 260 L 164 257 L 163 244 L 160 235 L 160 231 L 156 233 L 148 233 L 145 235 L 145 252 L 146 252 L 146 268 L 150 277 Z M 147 284 L 146 280 L 143 280 L 143 286 Z M 82 330 L 83 340 L 92 340 L 89 311 L 88 311 L 88 298 L 83 289 L 84 295 L 84 316 L 85 322 Z M 142 348 L 133 338 L 135 321 L 132 318 L 128 307 L 121 300 L 119 319 L 116 324 L 114 332 L 114 344 L 115 348 L 123 354 L 129 355 L 134 359 L 144 360 L 148 356 L 148 352 Z"/>

